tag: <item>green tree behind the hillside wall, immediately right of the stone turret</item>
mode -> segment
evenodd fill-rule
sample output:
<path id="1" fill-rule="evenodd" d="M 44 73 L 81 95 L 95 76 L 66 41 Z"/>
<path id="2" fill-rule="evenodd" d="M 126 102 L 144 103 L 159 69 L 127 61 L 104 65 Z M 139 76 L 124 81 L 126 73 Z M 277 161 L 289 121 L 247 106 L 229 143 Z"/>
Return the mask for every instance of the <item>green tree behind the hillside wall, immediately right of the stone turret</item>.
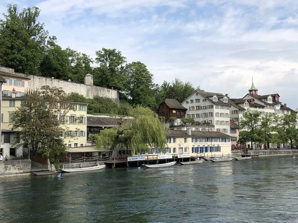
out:
<path id="1" fill-rule="evenodd" d="M 97 86 L 106 86 L 120 91 L 126 89 L 127 78 L 125 76 L 126 57 L 122 56 L 121 51 L 116 49 L 102 48 L 96 51 L 95 62 L 99 67 L 93 70 L 94 84 Z"/>

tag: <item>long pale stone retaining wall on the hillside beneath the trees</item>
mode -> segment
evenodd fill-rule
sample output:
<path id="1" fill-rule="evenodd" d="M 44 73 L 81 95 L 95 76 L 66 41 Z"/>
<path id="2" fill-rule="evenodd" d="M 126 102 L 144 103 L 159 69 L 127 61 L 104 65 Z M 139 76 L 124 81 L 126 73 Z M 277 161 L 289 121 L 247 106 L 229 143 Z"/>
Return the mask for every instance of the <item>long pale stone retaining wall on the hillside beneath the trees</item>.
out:
<path id="1" fill-rule="evenodd" d="M 18 73 L 19 74 L 19 73 Z M 63 90 L 69 94 L 76 92 L 78 94 L 83 95 L 85 98 L 94 98 L 94 96 L 100 96 L 105 98 L 110 98 L 114 100 L 116 103 L 119 103 L 119 92 L 116 90 L 112 90 L 109 88 L 98 87 L 98 86 L 90 86 L 87 84 L 78 84 L 71 81 L 58 80 L 54 78 L 48 77 L 40 77 L 33 75 L 24 75 L 30 80 L 28 81 L 28 88 L 32 90 L 39 89 L 43 85 L 49 85 L 50 87 L 61 87 Z"/>

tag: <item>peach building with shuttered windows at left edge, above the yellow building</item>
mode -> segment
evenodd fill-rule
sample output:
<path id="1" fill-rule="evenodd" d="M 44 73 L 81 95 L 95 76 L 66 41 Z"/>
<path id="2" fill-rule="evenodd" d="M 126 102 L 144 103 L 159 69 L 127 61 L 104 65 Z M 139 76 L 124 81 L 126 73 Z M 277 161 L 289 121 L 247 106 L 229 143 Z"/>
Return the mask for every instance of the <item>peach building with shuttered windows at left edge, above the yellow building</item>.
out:
<path id="1" fill-rule="evenodd" d="M 2 96 L 10 97 L 13 89 L 15 90 L 16 97 L 24 96 L 30 78 L 14 73 L 13 69 L 6 68 L 5 70 L 9 72 L 0 70 L 0 75 L 6 80 L 6 83 L 2 85 Z"/>

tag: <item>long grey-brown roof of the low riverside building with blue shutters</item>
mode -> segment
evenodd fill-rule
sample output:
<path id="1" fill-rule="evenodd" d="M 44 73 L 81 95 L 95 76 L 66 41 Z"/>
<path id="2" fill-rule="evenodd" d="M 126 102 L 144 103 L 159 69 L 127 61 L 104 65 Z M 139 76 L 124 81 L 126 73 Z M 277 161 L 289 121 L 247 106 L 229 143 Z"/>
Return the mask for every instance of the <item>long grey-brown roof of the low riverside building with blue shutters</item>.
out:
<path id="1" fill-rule="evenodd" d="M 217 131 L 191 131 L 191 135 L 183 130 L 166 130 L 168 137 L 230 137 L 222 132 Z"/>

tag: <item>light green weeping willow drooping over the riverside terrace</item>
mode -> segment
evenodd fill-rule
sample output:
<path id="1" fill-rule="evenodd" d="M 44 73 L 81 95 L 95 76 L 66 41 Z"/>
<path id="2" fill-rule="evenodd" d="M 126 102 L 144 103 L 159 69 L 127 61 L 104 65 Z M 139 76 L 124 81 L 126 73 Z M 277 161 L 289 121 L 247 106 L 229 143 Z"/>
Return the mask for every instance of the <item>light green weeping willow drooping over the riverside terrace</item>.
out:
<path id="1" fill-rule="evenodd" d="M 136 107 L 129 112 L 119 127 L 104 129 L 100 134 L 90 134 L 98 149 L 131 150 L 132 154 L 149 152 L 150 148 L 166 146 L 165 130 L 156 114 L 149 108 Z"/>

